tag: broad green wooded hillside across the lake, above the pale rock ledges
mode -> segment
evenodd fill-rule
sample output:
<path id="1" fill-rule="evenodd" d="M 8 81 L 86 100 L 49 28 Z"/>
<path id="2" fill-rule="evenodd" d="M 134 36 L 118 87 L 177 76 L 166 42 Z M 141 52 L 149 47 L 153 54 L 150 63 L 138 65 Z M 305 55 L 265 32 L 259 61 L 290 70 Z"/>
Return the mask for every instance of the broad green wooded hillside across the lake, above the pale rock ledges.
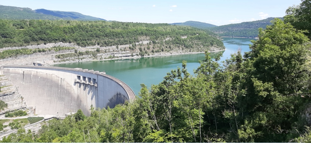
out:
<path id="1" fill-rule="evenodd" d="M 158 44 L 162 51 L 172 48 L 223 48 L 215 35 L 183 26 L 107 21 L 72 20 L 0 20 L 0 47 L 25 46 L 53 42 L 100 47 L 135 45 L 141 41 Z M 182 38 L 187 36 L 187 38 Z M 136 48 L 136 47 L 134 47 Z M 150 48 L 150 47 L 149 47 Z M 156 48 L 156 47 L 155 47 Z M 149 49 L 148 49 L 149 50 Z M 156 49 L 155 49 L 156 50 Z"/>

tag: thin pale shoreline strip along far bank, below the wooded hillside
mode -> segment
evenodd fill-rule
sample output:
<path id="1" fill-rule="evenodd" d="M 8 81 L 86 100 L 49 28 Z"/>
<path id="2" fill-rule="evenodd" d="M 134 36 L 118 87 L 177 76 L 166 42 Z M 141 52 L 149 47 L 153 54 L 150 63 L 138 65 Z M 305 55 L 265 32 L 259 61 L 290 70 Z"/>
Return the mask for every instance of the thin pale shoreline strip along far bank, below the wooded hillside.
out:
<path id="1" fill-rule="evenodd" d="M 211 51 L 210 53 L 220 52 L 220 51 L 225 51 L 225 50 L 226 49 L 217 50 L 217 51 Z M 173 56 L 173 55 L 199 54 L 199 53 L 204 53 L 204 52 L 174 53 L 174 54 L 163 54 L 163 55 L 150 55 L 150 56 L 144 56 L 144 57 Z M 135 59 L 135 58 L 143 58 L 143 57 L 133 56 L 133 57 L 118 57 L 118 58 L 114 58 L 114 59 L 102 59 L 102 60 L 98 60 L 97 59 L 97 60 L 85 60 L 85 61 L 65 61 L 65 62 L 59 62 L 59 63 L 52 63 L 52 64 L 49 64 L 49 65 L 79 63 L 79 62 L 91 62 L 91 61 L 105 61 L 105 60 L 123 60 L 123 59 Z"/>

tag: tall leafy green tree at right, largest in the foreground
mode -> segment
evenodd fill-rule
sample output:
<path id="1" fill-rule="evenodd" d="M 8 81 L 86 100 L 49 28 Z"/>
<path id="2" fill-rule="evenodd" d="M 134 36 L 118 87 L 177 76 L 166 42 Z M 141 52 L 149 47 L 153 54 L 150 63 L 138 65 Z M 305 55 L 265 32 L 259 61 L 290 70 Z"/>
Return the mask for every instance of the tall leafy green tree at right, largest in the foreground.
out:
<path id="1" fill-rule="evenodd" d="M 299 110 L 305 100 L 300 96 L 307 94 L 310 80 L 305 43 L 309 39 L 301 31 L 280 19 L 259 30 L 259 40 L 253 41 L 242 64 L 247 76 L 242 83 L 246 94 L 237 98 L 241 142 L 284 141 L 282 134 L 302 128 L 295 123 L 302 122 Z"/>

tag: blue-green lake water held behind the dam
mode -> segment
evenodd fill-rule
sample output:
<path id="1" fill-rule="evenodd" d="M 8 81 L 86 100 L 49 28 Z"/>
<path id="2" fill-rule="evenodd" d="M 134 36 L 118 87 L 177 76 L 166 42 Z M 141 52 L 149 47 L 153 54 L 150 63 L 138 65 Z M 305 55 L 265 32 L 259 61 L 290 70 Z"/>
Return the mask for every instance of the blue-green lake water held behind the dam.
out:
<path id="1" fill-rule="evenodd" d="M 223 57 L 220 61 L 230 58 L 230 54 L 236 53 L 241 49 L 242 53 L 249 51 L 250 38 L 223 38 L 223 43 L 226 47 L 223 52 Z M 211 56 L 215 56 L 213 53 Z M 138 95 L 140 84 L 144 83 L 151 87 L 163 81 L 166 73 L 172 69 L 182 66 L 182 61 L 187 61 L 188 72 L 193 74 L 193 70 L 200 65 L 199 60 L 204 60 L 204 53 L 185 54 L 172 56 L 144 57 L 137 59 L 123 60 L 105 60 L 92 62 L 78 62 L 68 64 L 55 64 L 51 66 L 67 67 L 67 68 L 82 68 L 105 71 L 106 74 L 114 76 L 128 84 L 129 87 Z"/>

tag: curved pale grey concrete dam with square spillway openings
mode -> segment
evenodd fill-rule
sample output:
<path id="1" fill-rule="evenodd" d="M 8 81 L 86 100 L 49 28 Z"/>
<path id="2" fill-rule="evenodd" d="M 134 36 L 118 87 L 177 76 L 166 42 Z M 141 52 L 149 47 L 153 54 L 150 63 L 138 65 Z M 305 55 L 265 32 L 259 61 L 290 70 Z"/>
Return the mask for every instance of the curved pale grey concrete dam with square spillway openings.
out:
<path id="1" fill-rule="evenodd" d="M 22 65 L 4 65 L 1 70 L 35 114 L 65 116 L 81 109 L 89 115 L 91 105 L 114 108 L 135 100 L 128 85 L 99 71 Z"/>

